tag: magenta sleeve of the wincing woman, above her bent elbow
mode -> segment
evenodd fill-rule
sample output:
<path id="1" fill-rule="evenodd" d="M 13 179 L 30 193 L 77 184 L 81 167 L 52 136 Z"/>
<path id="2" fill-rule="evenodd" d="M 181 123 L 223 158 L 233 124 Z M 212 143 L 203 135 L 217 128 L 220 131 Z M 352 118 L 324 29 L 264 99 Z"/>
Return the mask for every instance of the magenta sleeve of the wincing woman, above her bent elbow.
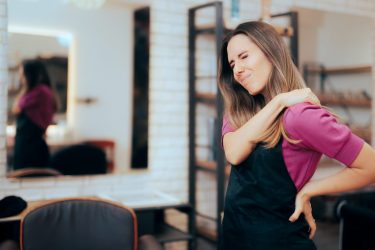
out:
<path id="1" fill-rule="evenodd" d="M 301 140 L 297 145 L 323 153 L 347 166 L 364 145 L 363 139 L 316 105 L 301 103 L 288 108 L 284 114 L 284 125 L 292 139 Z"/>

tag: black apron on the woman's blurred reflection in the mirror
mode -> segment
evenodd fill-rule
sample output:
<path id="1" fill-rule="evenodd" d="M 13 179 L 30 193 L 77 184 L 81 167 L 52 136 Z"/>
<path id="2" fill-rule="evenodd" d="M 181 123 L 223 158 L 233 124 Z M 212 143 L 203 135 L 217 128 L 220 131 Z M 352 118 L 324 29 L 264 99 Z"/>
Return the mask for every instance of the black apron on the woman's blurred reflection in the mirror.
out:
<path id="1" fill-rule="evenodd" d="M 44 140 L 45 130 L 33 123 L 24 113 L 17 116 L 16 122 L 13 169 L 46 167 L 49 150 Z"/>

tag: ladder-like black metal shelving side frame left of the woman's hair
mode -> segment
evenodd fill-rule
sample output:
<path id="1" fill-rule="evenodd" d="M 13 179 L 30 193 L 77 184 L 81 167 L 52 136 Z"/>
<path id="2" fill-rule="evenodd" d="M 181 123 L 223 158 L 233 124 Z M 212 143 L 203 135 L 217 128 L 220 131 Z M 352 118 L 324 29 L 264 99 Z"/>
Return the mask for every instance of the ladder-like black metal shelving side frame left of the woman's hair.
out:
<path id="1" fill-rule="evenodd" d="M 215 22 L 213 27 L 200 28 L 196 26 L 197 12 L 206 9 L 213 8 L 215 11 Z M 198 93 L 196 91 L 196 80 L 199 78 L 196 75 L 196 40 L 197 37 L 204 35 L 212 35 L 215 41 L 216 58 L 220 54 L 221 41 L 223 40 L 226 29 L 224 28 L 223 21 L 223 5 L 222 2 L 212 2 L 196 6 L 189 9 L 189 202 L 192 204 L 194 211 L 196 212 L 196 172 L 205 171 L 216 175 L 217 179 L 217 211 L 216 211 L 216 223 L 217 230 L 216 235 L 220 235 L 221 230 L 221 213 L 224 210 L 224 168 L 225 158 L 222 149 L 220 148 L 220 126 L 223 115 L 223 100 L 218 94 L 210 93 Z M 215 78 L 214 76 L 206 76 L 206 78 Z M 217 92 L 219 90 L 217 89 Z M 198 161 L 196 158 L 196 106 L 197 104 L 209 105 L 216 109 L 216 122 L 215 122 L 215 139 L 214 146 L 211 150 L 216 155 L 215 161 Z M 219 121 L 219 122 L 218 122 Z M 195 219 L 195 218 L 194 218 Z M 194 222 L 195 224 L 195 222 Z"/>

